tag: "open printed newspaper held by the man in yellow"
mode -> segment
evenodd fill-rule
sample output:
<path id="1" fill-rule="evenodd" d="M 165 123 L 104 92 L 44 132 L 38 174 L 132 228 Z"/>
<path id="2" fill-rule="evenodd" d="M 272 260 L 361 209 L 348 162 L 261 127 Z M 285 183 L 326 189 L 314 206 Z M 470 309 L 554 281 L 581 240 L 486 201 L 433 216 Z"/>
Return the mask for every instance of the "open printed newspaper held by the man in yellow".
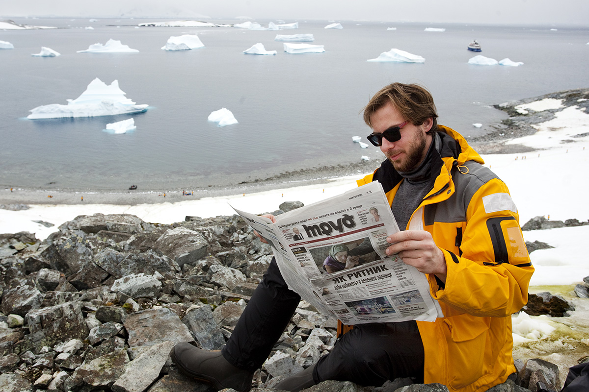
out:
<path id="1" fill-rule="evenodd" d="M 345 324 L 442 317 L 425 275 L 387 256 L 399 227 L 379 182 L 267 217 L 237 210 L 272 246 L 289 288 Z"/>

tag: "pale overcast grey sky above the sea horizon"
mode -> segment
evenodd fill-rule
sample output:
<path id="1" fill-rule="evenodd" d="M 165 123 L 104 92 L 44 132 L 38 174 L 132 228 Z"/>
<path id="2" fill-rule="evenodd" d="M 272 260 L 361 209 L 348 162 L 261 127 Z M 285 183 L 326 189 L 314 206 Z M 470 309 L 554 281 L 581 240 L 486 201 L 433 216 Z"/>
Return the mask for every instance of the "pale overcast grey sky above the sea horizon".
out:
<path id="1" fill-rule="evenodd" d="M 369 20 L 589 26 L 587 0 L 4 0 L 9 16 Z"/>

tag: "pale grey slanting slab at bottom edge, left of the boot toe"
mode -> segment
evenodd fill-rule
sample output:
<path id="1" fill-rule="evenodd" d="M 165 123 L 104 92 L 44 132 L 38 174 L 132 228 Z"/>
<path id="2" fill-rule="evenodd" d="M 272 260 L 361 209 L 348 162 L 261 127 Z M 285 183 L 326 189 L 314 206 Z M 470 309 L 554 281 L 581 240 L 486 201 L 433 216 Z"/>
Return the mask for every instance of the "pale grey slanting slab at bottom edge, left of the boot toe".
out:
<path id="1" fill-rule="evenodd" d="M 163 341 L 154 344 L 125 366 L 123 374 L 112 385 L 113 392 L 143 392 L 160 376 L 170 351 L 176 343 Z"/>

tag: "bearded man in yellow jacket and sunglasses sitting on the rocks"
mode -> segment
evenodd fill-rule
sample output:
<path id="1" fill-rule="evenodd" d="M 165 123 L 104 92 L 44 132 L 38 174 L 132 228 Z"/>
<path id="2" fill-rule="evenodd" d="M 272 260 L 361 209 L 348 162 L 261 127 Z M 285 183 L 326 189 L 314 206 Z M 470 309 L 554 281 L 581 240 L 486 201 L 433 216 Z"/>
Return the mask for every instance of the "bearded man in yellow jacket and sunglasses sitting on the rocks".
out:
<path id="1" fill-rule="evenodd" d="M 382 185 L 401 228 L 386 238 L 386 254 L 425 274 L 444 316 L 340 325 L 329 354 L 274 388 L 296 392 L 325 380 L 380 386 L 411 377 L 482 392 L 515 374 L 511 314 L 527 303 L 534 272 L 517 208 L 466 139 L 437 118 L 431 93 L 419 85 L 392 83 L 377 92 L 364 120 L 386 160 L 358 185 Z M 300 299 L 272 260 L 223 349 L 179 343 L 172 360 L 217 389 L 249 390 Z"/>

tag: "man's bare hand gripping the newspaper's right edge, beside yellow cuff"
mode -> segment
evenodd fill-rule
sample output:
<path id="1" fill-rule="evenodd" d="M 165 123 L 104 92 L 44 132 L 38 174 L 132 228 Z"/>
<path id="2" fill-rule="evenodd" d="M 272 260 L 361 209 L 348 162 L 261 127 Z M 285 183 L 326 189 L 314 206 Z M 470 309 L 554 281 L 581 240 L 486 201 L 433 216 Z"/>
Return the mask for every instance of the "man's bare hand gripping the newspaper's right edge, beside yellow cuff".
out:
<path id="1" fill-rule="evenodd" d="M 435 274 L 446 282 L 446 261 L 444 253 L 436 246 L 432 234 L 423 230 L 405 230 L 388 236 L 386 254 L 398 253 L 405 264 L 419 272 Z"/>

